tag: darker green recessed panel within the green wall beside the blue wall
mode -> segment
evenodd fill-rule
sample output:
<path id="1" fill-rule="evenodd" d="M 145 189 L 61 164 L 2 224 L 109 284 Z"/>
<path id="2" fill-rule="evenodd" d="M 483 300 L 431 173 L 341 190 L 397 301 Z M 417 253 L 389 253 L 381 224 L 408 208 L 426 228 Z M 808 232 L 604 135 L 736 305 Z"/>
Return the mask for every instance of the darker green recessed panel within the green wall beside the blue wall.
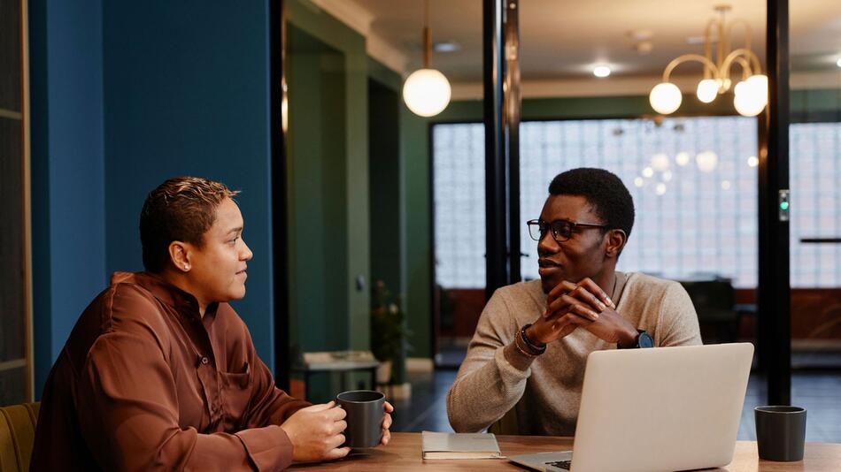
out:
<path id="1" fill-rule="evenodd" d="M 292 25 L 288 38 L 291 339 L 304 351 L 346 349 L 344 56 Z"/>

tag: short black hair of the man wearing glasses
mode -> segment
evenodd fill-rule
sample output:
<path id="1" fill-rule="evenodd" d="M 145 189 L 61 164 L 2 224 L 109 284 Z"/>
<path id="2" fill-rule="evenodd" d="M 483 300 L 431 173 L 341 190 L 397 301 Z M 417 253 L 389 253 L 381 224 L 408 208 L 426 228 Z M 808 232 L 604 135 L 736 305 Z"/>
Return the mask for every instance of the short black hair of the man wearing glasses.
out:
<path id="1" fill-rule="evenodd" d="M 549 184 L 549 194 L 580 195 L 587 199 L 606 229 L 620 229 L 630 236 L 634 226 L 634 199 L 613 172 L 581 167 L 561 172 Z"/>

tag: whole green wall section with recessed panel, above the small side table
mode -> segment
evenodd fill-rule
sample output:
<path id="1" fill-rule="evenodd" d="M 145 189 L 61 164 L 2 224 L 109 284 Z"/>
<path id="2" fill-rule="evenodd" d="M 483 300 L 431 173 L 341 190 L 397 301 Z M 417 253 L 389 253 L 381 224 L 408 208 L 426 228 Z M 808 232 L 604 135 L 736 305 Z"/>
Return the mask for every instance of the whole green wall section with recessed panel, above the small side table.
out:
<path id="1" fill-rule="evenodd" d="M 286 9 L 290 343 L 368 349 L 365 38 L 308 0 Z M 335 380 L 313 382 L 311 400 L 331 398 Z"/>

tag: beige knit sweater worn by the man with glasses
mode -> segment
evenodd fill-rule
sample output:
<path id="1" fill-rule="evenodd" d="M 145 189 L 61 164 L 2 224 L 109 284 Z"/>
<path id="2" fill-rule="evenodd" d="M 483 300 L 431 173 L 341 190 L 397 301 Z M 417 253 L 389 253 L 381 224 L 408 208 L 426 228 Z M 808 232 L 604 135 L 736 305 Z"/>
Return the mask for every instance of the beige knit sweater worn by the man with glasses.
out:
<path id="1" fill-rule="evenodd" d="M 616 311 L 648 331 L 654 346 L 701 344 L 698 316 L 683 286 L 636 272 L 616 276 L 610 294 Z M 578 328 L 536 358 L 521 354 L 514 336 L 545 306 L 540 280 L 502 287 L 490 298 L 447 392 L 453 430 L 484 430 L 516 407 L 521 434 L 575 434 L 587 355 L 616 346 Z"/>

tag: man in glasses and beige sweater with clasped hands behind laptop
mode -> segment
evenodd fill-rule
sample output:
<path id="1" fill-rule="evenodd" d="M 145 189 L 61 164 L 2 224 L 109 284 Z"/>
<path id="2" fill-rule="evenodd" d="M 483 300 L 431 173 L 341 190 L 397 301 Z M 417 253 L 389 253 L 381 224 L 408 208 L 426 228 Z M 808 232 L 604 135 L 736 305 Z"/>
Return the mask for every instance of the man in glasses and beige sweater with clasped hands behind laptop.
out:
<path id="1" fill-rule="evenodd" d="M 572 436 L 588 354 L 701 344 L 680 284 L 616 271 L 634 202 L 613 173 L 559 174 L 527 225 L 540 280 L 498 289 L 482 311 L 447 393 L 456 431 L 484 430 L 513 409 L 521 434 Z"/>

